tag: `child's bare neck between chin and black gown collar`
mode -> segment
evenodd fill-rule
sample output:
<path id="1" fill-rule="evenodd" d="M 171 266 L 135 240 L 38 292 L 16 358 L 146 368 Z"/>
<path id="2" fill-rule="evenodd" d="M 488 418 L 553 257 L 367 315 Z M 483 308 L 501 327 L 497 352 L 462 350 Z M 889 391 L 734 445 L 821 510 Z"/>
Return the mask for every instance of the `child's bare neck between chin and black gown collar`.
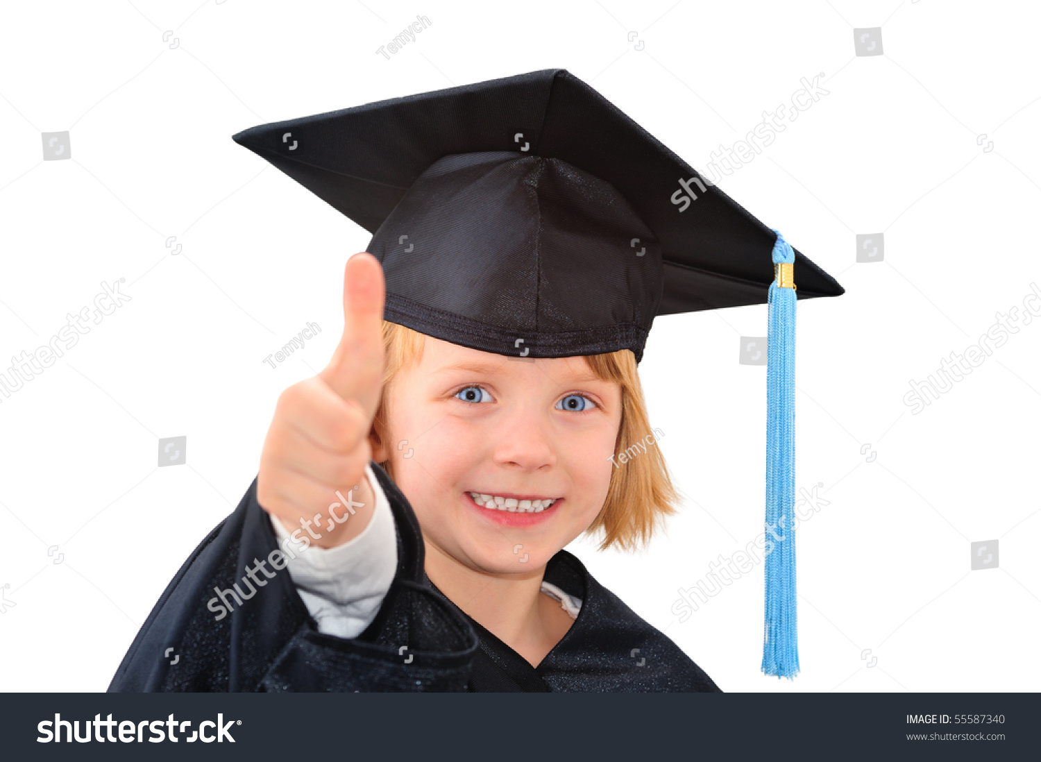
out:
<path id="1" fill-rule="evenodd" d="M 550 633 L 556 628 L 555 621 L 548 619 L 559 619 L 552 612 L 560 604 L 540 592 L 545 566 L 522 574 L 490 574 L 460 563 L 429 541 L 425 544 L 427 577 L 437 589 L 537 666 L 559 640 L 559 637 L 551 640 Z"/>

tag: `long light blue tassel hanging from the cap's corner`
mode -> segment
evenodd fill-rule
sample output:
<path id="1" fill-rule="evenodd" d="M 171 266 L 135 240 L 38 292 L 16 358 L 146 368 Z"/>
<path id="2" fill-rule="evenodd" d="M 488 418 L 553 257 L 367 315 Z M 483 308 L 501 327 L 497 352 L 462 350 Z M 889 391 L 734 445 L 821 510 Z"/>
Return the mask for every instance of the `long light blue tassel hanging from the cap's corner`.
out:
<path id="1" fill-rule="evenodd" d="M 777 230 L 773 262 L 794 262 L 795 252 Z M 798 672 L 795 620 L 795 288 L 775 280 L 769 290 L 766 338 L 766 606 L 763 665 L 766 675 Z"/>

